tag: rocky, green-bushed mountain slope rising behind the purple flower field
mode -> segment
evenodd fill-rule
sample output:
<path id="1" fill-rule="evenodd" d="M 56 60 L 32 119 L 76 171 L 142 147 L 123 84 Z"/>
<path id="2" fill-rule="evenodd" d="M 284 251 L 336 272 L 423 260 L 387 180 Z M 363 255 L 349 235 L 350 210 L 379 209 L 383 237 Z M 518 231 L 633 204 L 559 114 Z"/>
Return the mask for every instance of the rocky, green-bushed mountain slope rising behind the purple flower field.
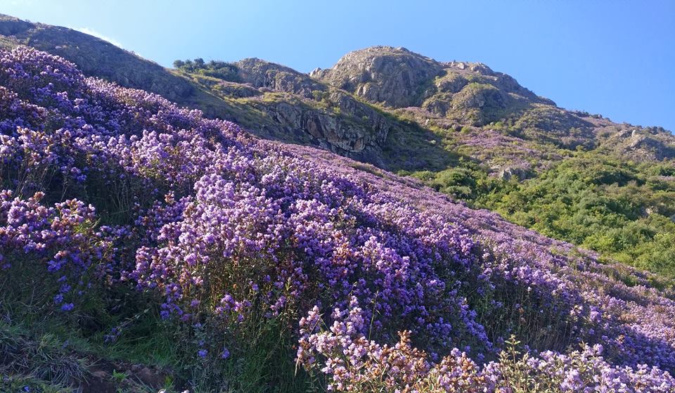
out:
<path id="1" fill-rule="evenodd" d="M 674 137 L 558 108 L 486 65 L 376 46 L 310 75 L 259 59 L 166 70 L 63 27 L 2 17 L 0 34 L 4 46 L 51 51 L 86 75 L 414 176 L 605 259 L 675 276 Z"/>

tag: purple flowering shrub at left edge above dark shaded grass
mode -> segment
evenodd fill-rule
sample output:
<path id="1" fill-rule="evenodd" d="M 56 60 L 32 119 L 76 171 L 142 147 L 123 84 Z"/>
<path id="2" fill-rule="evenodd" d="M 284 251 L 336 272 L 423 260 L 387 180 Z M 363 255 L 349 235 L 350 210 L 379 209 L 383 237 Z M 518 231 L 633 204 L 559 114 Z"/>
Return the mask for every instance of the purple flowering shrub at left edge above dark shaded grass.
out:
<path id="1" fill-rule="evenodd" d="M 53 207 L 41 205 L 44 193 L 26 200 L 0 191 L 0 269 L 29 269 L 42 264 L 58 286 L 53 303 L 70 311 L 91 285 L 91 278 L 105 281 L 112 273 L 113 244 L 127 236 L 124 228 L 96 227 L 95 211 L 79 200 Z M 35 277 L 33 277 L 34 279 Z M 48 285 L 50 281 L 33 281 Z"/>

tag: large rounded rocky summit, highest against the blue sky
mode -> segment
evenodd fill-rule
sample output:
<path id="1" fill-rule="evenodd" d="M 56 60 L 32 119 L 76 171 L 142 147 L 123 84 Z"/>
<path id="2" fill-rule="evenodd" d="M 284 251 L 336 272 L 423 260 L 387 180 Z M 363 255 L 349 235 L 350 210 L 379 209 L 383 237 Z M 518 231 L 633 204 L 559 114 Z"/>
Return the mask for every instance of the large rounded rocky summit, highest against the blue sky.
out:
<path id="1" fill-rule="evenodd" d="M 439 63 L 390 46 L 347 53 L 332 68 L 314 70 L 310 76 L 371 103 L 420 107 L 475 126 L 518 117 L 535 104 L 555 105 L 482 63 Z"/>

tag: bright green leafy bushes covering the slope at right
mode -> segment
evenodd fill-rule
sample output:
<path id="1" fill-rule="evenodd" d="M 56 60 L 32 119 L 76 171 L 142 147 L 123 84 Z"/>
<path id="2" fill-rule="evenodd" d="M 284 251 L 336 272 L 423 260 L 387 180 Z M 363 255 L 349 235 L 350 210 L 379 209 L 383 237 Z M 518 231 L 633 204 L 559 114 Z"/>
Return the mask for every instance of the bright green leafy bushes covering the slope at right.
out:
<path id="1" fill-rule="evenodd" d="M 675 178 L 669 165 L 580 153 L 535 179 L 478 198 L 517 224 L 675 276 Z"/>

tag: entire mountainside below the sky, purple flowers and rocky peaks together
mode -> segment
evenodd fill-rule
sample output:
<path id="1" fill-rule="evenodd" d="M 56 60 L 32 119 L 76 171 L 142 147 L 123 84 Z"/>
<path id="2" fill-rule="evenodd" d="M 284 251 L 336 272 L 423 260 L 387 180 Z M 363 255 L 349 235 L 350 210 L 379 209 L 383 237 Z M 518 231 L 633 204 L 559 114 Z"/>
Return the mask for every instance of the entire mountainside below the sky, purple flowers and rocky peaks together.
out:
<path id="1" fill-rule="evenodd" d="M 390 46 L 0 46 L 0 392 L 675 392 L 669 131 Z"/>

